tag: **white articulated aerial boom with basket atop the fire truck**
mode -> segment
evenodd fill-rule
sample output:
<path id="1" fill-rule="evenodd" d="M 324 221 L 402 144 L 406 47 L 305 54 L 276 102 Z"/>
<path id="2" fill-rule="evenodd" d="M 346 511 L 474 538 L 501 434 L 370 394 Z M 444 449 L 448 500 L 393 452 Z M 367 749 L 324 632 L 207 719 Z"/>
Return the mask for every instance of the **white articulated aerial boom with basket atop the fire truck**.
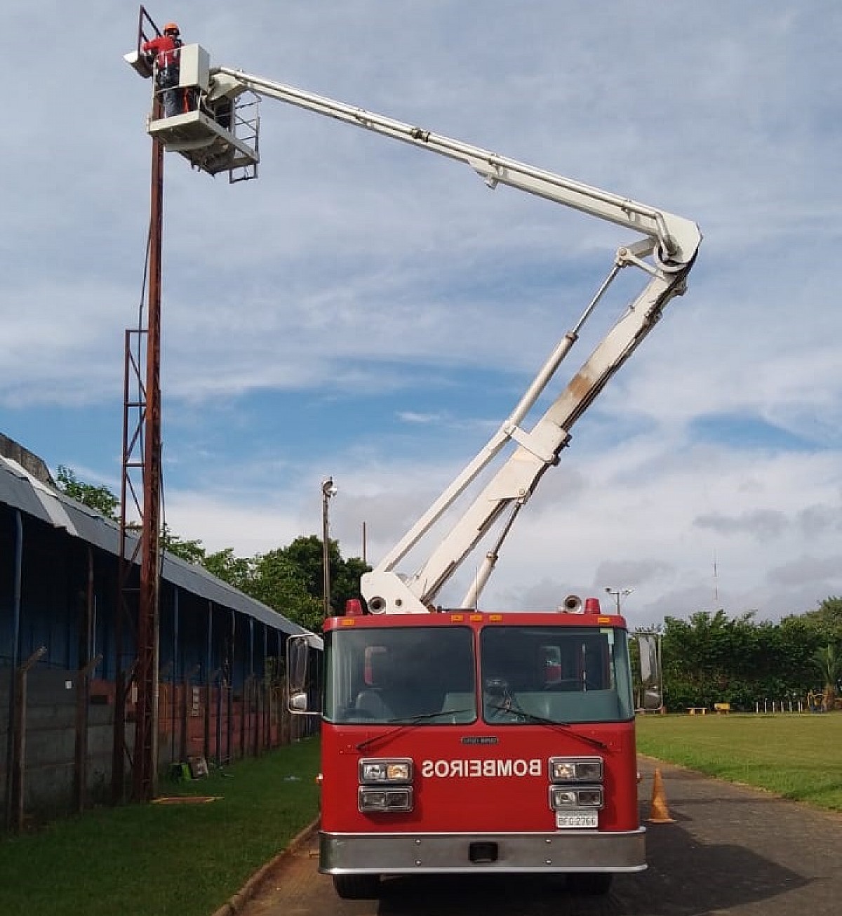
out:
<path id="1" fill-rule="evenodd" d="M 197 50 L 192 51 L 195 47 Z M 206 52 L 199 46 L 186 46 L 188 59 L 203 60 Z M 126 56 L 129 63 L 130 55 Z M 133 63 L 134 66 L 134 63 Z M 137 69 L 135 67 L 135 69 Z M 414 614 L 434 610 L 437 595 L 459 569 L 461 562 L 491 529 L 498 526 L 494 546 L 486 553 L 480 570 L 474 577 L 461 607 L 476 606 L 479 594 L 488 581 L 497 561 L 502 540 L 512 527 L 517 513 L 524 506 L 545 470 L 558 463 L 559 453 L 567 445 L 570 430 L 588 409 L 608 380 L 658 322 L 667 303 L 685 291 L 686 277 L 696 258 L 701 242 L 698 226 L 690 220 L 657 207 L 647 206 L 600 191 L 578 181 L 536 169 L 515 159 L 499 156 L 489 150 L 474 147 L 432 131 L 395 121 L 381 114 L 336 102 L 324 96 L 308 93 L 293 86 L 265 80 L 228 67 L 210 68 L 200 65 L 190 68 L 187 85 L 198 90 L 196 110 L 176 117 L 159 119 L 149 125 L 165 147 L 180 152 L 199 169 L 215 174 L 225 169 L 243 166 L 243 156 L 251 155 L 256 167 L 257 137 L 254 147 L 243 144 L 236 134 L 236 119 L 232 130 L 221 129 L 214 112 L 219 104 L 232 102 L 243 93 L 254 93 L 279 102 L 297 105 L 315 114 L 325 114 L 346 124 L 364 127 L 376 134 L 402 140 L 414 147 L 469 165 L 491 188 L 509 185 L 548 201 L 562 203 L 582 213 L 607 220 L 633 230 L 638 236 L 617 252 L 607 278 L 593 300 L 588 303 L 578 322 L 562 337 L 556 349 L 541 367 L 524 397 L 503 421 L 500 429 L 448 486 L 416 524 L 406 532 L 389 553 L 372 570 L 362 576 L 362 594 L 372 614 Z M 184 80 L 182 79 L 182 83 Z M 230 109 L 229 109 L 230 110 Z M 251 127 L 250 127 L 251 129 Z M 201 137 L 207 136 L 203 151 Z M 225 147 L 230 143 L 230 148 Z M 244 154 L 243 150 L 246 150 Z M 232 165 L 226 165 L 230 160 Z M 597 344 L 578 372 L 567 383 L 532 429 L 524 428 L 524 420 L 541 396 L 562 360 L 578 340 L 579 332 L 596 308 L 599 300 L 623 267 L 643 271 L 648 282 L 642 292 L 623 312 L 609 333 Z M 459 513 L 445 537 L 438 541 L 426 562 L 412 575 L 396 573 L 395 568 L 412 551 L 429 529 L 441 519 L 459 496 L 477 480 L 503 448 L 513 442 L 514 449 L 496 473 L 465 511 Z M 502 456 L 501 456 L 502 460 Z"/>

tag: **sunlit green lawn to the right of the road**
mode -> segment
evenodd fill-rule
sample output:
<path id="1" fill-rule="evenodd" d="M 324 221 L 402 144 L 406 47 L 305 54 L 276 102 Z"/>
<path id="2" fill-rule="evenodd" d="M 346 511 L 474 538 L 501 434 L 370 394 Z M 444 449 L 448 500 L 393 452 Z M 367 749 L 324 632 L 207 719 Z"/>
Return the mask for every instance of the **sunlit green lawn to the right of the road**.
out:
<path id="1" fill-rule="evenodd" d="M 730 782 L 842 811 L 842 714 L 642 715 L 637 748 Z"/>

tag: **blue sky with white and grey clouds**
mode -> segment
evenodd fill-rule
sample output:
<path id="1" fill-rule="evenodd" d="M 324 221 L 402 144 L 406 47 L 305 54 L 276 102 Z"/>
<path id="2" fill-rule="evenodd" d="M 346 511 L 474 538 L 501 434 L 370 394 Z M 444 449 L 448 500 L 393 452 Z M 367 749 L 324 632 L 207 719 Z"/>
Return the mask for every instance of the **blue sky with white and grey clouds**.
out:
<path id="1" fill-rule="evenodd" d="M 21 82 L 2 141 L 0 431 L 54 471 L 119 491 L 149 83 L 122 59 L 137 5 L 49 6 L 33 29 L 31 5 L 5 5 L 6 65 Z M 631 588 L 623 608 L 642 624 L 714 606 L 776 618 L 842 594 L 842 7 L 149 9 L 214 64 L 700 225 L 685 297 L 577 424 L 483 606 Z M 318 532 L 332 474 L 332 534 L 358 555 L 365 523 L 376 562 L 513 408 L 633 239 L 271 100 L 261 135 L 260 178 L 245 184 L 167 156 L 167 523 L 210 550 L 270 550 Z M 583 342 L 571 365 L 587 353 Z M 442 599 L 463 591 L 458 580 Z"/>

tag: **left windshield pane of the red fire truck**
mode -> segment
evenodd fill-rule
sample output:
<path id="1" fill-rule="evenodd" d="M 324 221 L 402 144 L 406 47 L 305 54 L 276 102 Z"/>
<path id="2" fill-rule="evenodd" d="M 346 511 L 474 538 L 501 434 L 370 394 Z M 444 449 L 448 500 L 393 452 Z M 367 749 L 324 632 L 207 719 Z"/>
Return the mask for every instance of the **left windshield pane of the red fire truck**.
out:
<path id="1" fill-rule="evenodd" d="M 328 722 L 448 725 L 477 718 L 469 627 L 383 627 L 325 634 Z"/>

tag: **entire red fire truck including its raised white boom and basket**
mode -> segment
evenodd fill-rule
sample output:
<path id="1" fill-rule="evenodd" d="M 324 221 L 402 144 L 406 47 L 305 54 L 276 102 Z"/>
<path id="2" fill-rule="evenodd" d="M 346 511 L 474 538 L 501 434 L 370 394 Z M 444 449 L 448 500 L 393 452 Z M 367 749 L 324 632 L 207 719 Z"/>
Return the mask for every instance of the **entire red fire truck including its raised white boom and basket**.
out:
<path id="1" fill-rule="evenodd" d="M 140 37 L 126 60 L 149 76 L 139 49 Z M 241 103 L 265 96 L 465 163 L 491 189 L 508 185 L 635 234 L 491 440 L 362 577 L 364 601 L 324 622 L 318 709 L 308 708 L 307 640 L 290 639 L 287 653 L 290 709 L 321 716 L 319 868 L 340 897 L 376 896 L 383 876 L 486 872 L 562 873 L 580 890 L 605 892 L 613 874 L 646 867 L 626 624 L 595 598 L 515 612 L 480 611 L 479 597 L 573 424 L 685 291 L 698 227 L 415 125 L 211 67 L 198 45 L 181 49 L 181 82 L 190 110 L 161 117 L 157 106 L 149 133 L 210 174 L 256 177 L 259 118 Z M 642 291 L 529 427 L 527 415 L 625 268 L 640 271 Z M 399 573 L 430 538 L 416 573 Z M 490 546 L 464 598 L 439 606 L 480 541 Z M 659 680 L 656 671 L 650 678 Z"/>

